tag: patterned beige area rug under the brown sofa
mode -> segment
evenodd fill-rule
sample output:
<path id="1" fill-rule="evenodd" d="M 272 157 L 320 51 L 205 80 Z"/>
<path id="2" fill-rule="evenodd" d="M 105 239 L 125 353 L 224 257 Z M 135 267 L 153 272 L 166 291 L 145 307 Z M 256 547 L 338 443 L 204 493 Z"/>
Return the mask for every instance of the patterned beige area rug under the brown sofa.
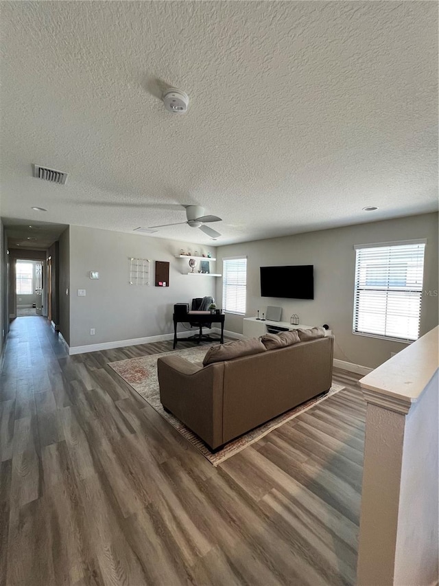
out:
<path id="1" fill-rule="evenodd" d="M 250 444 L 257 442 L 266 436 L 267 433 L 270 433 L 276 427 L 280 427 L 285 422 L 293 419 L 294 417 L 298 416 L 300 413 L 311 409 L 314 405 L 317 405 L 324 399 L 328 398 L 329 396 L 341 391 L 344 387 L 341 385 L 333 384 L 329 393 L 323 397 L 317 397 L 311 399 L 311 401 L 307 401 L 307 403 L 303 403 L 286 413 L 279 415 L 278 417 L 260 425 L 256 429 L 252 429 L 248 433 L 245 433 L 244 436 L 237 438 L 231 442 L 228 442 L 226 446 L 222 449 L 217 451 L 216 453 L 212 453 L 206 444 L 195 436 L 190 429 L 188 429 L 180 420 L 178 420 L 173 415 L 166 413 L 162 407 L 160 402 L 160 393 L 158 389 L 158 379 L 157 379 L 157 359 L 162 356 L 167 356 L 169 354 L 178 354 L 185 359 L 191 362 L 202 362 L 204 355 L 206 354 L 209 346 L 195 346 L 195 348 L 187 348 L 185 350 L 176 350 L 175 352 L 163 352 L 161 354 L 150 354 L 149 356 L 145 356 L 142 358 L 132 358 L 127 360 L 119 360 L 117 362 L 110 362 L 108 366 L 110 366 L 121 378 L 126 381 L 135 391 L 142 396 L 147 403 L 150 403 L 156 411 L 161 414 L 163 418 L 165 418 L 171 425 L 173 425 L 177 431 L 179 431 L 182 436 L 184 436 L 193 446 L 195 446 L 201 453 L 204 455 L 204 458 L 207 458 L 213 466 L 217 466 L 227 460 L 231 456 L 235 455 L 239 451 L 243 450 Z"/>

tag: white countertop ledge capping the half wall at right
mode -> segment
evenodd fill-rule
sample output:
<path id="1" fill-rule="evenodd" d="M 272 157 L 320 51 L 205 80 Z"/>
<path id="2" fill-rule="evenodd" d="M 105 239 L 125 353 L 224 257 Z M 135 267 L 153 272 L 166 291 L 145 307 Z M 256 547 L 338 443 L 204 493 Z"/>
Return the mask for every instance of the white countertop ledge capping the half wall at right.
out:
<path id="1" fill-rule="evenodd" d="M 438 336 L 439 326 L 360 379 L 366 401 L 401 412 L 416 403 L 438 370 Z"/>

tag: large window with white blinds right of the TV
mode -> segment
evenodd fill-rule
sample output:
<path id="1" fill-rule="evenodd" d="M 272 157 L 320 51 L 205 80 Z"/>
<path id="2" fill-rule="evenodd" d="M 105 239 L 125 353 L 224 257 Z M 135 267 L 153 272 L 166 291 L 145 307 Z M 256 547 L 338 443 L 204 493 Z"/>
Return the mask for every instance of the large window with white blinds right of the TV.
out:
<path id="1" fill-rule="evenodd" d="M 425 241 L 355 249 L 353 332 L 399 341 L 418 339 Z"/>

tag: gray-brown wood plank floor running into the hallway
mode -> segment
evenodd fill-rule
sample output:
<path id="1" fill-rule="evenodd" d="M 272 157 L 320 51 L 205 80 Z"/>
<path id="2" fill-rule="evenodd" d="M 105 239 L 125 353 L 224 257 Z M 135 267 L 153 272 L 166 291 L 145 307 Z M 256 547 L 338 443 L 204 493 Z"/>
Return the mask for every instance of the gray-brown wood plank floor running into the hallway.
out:
<path id="1" fill-rule="evenodd" d="M 179 347 L 189 346 L 181 343 Z M 355 583 L 365 403 L 346 390 L 213 468 L 108 368 L 12 323 L 0 381 L 0 586 Z"/>

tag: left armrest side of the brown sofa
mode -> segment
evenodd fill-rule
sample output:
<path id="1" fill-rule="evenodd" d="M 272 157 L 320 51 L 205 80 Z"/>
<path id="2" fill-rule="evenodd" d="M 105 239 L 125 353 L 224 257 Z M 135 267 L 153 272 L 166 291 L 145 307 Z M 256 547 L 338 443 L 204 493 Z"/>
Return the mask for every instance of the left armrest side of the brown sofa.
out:
<path id="1" fill-rule="evenodd" d="M 157 361 L 160 400 L 212 449 L 222 445 L 224 363 L 205 368 L 182 357 Z"/>

